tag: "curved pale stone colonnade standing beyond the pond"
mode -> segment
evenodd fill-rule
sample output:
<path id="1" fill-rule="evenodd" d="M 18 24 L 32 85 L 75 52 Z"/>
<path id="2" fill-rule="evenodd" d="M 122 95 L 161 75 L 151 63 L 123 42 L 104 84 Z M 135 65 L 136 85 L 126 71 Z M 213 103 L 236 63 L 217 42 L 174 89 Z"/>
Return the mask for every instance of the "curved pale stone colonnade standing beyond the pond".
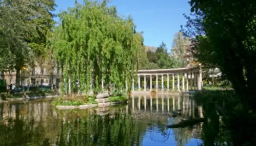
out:
<path id="1" fill-rule="evenodd" d="M 162 69 L 162 70 L 138 70 L 138 91 L 141 90 L 140 77 L 144 76 L 144 91 L 147 90 L 146 77 L 150 77 L 150 87 L 153 89 L 152 76 L 156 76 L 155 89 L 158 90 L 158 76 L 161 76 L 161 91 L 164 91 L 164 77 L 167 77 L 167 91 L 170 91 L 170 75 L 172 75 L 172 91 L 180 91 L 180 86 L 182 91 L 189 90 L 202 90 L 202 71 L 201 66 L 195 66 L 191 68 L 178 68 L 178 69 Z M 182 78 L 180 85 L 180 76 Z M 177 77 L 177 79 L 176 79 Z M 175 82 L 177 80 L 177 82 Z M 185 85 L 186 81 L 186 85 Z M 190 83 L 189 83 L 190 82 Z M 132 80 L 132 91 L 134 91 L 135 80 Z M 186 88 L 185 88 L 186 87 Z"/>

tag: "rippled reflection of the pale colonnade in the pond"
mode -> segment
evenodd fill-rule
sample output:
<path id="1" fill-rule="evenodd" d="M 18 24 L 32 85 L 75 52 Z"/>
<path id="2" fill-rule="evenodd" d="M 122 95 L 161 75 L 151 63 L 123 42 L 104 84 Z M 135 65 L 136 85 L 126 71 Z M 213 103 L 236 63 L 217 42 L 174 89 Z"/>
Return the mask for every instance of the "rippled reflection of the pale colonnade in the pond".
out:
<path id="1" fill-rule="evenodd" d="M 192 116 L 192 117 L 201 117 L 202 108 L 197 106 L 196 102 L 189 97 L 188 94 L 183 94 L 183 96 L 165 96 L 165 95 L 156 95 L 152 96 L 138 96 L 135 97 L 132 95 L 132 112 L 157 112 L 161 111 L 162 113 L 170 113 L 174 110 L 181 109 L 182 115 Z"/>

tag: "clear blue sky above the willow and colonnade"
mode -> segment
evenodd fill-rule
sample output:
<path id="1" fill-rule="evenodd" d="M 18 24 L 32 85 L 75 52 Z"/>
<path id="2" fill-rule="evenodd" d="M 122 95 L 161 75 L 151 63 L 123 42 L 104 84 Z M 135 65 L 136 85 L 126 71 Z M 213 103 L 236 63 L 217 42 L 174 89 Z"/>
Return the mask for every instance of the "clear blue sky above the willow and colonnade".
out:
<path id="1" fill-rule="evenodd" d="M 83 0 L 78 0 L 82 3 Z M 55 13 L 74 7 L 75 0 L 56 0 Z M 163 41 L 169 49 L 174 34 L 186 20 L 183 13 L 190 13 L 188 0 L 110 0 L 120 16 L 132 15 L 137 31 L 143 31 L 144 44 L 158 47 Z M 55 18 L 58 21 L 58 18 Z"/>

